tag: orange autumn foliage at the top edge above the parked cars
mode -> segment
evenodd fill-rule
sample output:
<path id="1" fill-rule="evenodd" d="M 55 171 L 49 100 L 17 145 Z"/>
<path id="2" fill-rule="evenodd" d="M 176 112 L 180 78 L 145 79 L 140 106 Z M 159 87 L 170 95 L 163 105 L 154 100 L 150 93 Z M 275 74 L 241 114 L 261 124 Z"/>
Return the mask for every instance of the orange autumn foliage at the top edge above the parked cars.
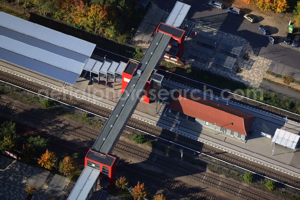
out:
<path id="1" fill-rule="evenodd" d="M 247 4 L 257 5 L 262 11 L 285 12 L 289 8 L 287 0 L 243 0 Z"/>

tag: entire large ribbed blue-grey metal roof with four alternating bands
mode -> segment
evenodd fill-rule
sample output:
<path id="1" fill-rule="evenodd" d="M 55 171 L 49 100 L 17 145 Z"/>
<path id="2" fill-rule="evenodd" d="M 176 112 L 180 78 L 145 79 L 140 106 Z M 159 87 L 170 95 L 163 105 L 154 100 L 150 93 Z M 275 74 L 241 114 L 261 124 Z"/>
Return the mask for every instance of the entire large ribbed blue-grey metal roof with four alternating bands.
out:
<path id="1" fill-rule="evenodd" d="M 0 59 L 75 84 L 95 44 L 0 12 Z"/>

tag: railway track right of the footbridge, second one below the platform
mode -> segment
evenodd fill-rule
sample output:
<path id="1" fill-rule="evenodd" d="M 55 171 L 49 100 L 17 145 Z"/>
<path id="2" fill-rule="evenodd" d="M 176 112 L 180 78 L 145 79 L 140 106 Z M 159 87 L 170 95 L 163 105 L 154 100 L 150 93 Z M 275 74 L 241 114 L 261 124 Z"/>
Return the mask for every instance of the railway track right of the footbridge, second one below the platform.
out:
<path id="1" fill-rule="evenodd" d="M 168 171 L 172 171 L 175 174 L 187 176 L 189 179 L 195 180 L 198 183 L 204 183 L 205 185 L 213 186 L 221 190 L 222 192 L 229 193 L 231 195 L 235 195 L 244 199 L 255 199 L 255 200 L 263 200 L 263 199 L 274 199 L 275 197 L 270 196 L 264 192 L 253 191 L 247 186 L 242 186 L 239 183 L 234 181 L 217 177 L 213 174 L 209 173 L 199 173 L 199 170 L 195 168 L 191 168 L 190 166 L 185 165 L 177 165 L 174 161 L 169 161 L 162 156 L 146 151 L 139 147 L 128 146 L 122 141 L 118 141 L 116 146 L 113 149 L 113 152 L 119 152 L 122 155 L 127 154 L 131 157 L 140 160 L 140 161 L 148 161 L 158 165 L 160 167 L 166 168 Z"/>

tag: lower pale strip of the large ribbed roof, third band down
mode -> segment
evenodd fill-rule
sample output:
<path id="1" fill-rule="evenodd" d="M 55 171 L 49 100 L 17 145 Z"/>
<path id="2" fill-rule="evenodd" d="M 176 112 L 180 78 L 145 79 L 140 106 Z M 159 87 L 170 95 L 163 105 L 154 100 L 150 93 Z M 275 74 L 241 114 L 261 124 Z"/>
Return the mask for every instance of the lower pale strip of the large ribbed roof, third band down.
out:
<path id="1" fill-rule="evenodd" d="M 81 62 L 59 56 L 55 53 L 51 53 L 38 47 L 33 47 L 29 44 L 7 38 L 3 35 L 0 35 L 0 41 L 0 48 L 10 50 L 41 62 L 45 62 L 49 65 L 53 65 L 67 71 L 72 71 L 76 74 L 80 74 L 84 66 L 84 64 Z"/>

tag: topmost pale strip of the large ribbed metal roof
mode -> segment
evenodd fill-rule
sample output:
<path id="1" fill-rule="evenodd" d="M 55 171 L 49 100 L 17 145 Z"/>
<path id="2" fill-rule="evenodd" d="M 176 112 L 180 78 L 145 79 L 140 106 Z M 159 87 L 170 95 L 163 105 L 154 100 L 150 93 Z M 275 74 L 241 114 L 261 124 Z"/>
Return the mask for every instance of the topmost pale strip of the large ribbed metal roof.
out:
<path id="1" fill-rule="evenodd" d="M 91 56 L 96 47 L 96 44 L 92 44 L 79 38 L 23 20 L 19 17 L 14 17 L 4 12 L 0 12 L 0 25 L 51 44 L 81 53 L 85 56 Z"/>

